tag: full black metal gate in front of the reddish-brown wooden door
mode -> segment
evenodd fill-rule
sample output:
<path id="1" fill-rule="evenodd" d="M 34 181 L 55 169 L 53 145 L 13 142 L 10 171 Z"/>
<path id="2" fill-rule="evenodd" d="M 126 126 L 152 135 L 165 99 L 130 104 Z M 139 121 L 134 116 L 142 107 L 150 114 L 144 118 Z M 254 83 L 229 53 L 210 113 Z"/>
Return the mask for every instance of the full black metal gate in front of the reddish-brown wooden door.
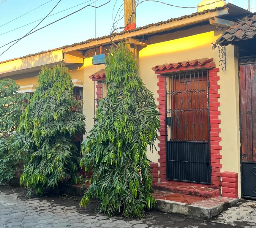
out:
<path id="1" fill-rule="evenodd" d="M 165 77 L 166 177 L 211 184 L 208 71 Z"/>

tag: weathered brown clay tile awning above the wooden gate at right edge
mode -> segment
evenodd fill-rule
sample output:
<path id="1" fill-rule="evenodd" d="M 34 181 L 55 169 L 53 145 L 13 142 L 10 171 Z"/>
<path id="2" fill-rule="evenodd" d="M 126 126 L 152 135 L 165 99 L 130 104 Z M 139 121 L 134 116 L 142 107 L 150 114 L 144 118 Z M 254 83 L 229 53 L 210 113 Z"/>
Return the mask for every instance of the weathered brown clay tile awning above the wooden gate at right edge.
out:
<path id="1" fill-rule="evenodd" d="M 238 40 L 252 39 L 255 35 L 256 14 L 227 29 L 216 42 L 220 45 L 227 45 Z"/>

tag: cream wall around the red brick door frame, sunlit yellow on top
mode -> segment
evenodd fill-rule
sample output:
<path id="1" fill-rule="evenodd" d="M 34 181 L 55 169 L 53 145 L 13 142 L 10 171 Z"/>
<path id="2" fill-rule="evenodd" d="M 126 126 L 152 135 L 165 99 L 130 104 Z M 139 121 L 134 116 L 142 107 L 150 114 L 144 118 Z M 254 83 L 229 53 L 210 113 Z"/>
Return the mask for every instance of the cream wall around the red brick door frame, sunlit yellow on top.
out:
<path id="1" fill-rule="evenodd" d="M 200 29 L 200 30 L 199 30 Z M 154 94 L 157 105 L 157 75 L 151 67 L 156 65 L 193 60 L 198 58 L 214 58 L 216 67 L 219 63 L 218 50 L 212 50 L 211 42 L 216 41 L 221 35 L 220 31 L 214 31 L 215 26 L 200 26 L 197 28 L 167 34 L 161 37 L 152 37 L 154 44 L 139 51 L 139 75 L 146 87 Z M 201 33 L 200 33 L 201 32 Z M 197 34 L 200 33 L 200 34 Z M 186 36 L 186 37 L 185 37 Z M 181 37 L 181 38 L 180 38 Z M 155 39 L 155 40 L 154 40 Z M 150 42 L 149 40 L 148 42 Z M 222 141 L 222 172 L 232 171 L 240 173 L 239 161 L 239 106 L 238 106 L 238 67 L 234 61 L 234 47 L 227 47 L 227 70 L 218 72 L 220 77 L 221 132 Z M 157 143 L 156 143 L 157 145 Z M 148 158 L 158 162 L 157 151 L 147 153 Z M 240 180 L 239 180 L 240 181 Z"/>

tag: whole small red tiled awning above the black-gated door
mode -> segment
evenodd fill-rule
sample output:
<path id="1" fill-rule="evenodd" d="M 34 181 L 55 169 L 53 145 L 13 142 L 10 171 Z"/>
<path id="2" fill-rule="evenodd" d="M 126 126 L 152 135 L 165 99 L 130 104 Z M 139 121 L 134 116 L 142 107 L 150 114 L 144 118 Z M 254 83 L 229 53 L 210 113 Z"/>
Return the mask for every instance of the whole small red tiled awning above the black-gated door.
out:
<path id="1" fill-rule="evenodd" d="M 189 61 L 182 61 L 178 63 L 169 63 L 163 65 L 157 65 L 152 67 L 152 70 L 156 74 L 159 73 L 168 73 L 179 70 L 187 70 L 187 69 L 197 69 L 197 68 L 214 68 L 215 63 L 213 62 L 213 58 L 200 58 Z"/>

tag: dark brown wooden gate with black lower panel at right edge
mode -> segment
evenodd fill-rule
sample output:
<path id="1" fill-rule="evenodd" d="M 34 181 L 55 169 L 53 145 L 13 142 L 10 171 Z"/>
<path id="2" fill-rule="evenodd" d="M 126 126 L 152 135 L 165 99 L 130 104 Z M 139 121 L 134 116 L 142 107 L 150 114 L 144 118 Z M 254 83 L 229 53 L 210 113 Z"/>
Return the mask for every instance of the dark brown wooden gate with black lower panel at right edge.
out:
<path id="1" fill-rule="evenodd" d="M 251 59 L 251 60 L 250 60 Z M 240 59 L 242 197 L 256 198 L 256 58 Z M 254 62 L 253 62 L 254 61 Z M 250 62 L 250 64 L 248 64 Z"/>

